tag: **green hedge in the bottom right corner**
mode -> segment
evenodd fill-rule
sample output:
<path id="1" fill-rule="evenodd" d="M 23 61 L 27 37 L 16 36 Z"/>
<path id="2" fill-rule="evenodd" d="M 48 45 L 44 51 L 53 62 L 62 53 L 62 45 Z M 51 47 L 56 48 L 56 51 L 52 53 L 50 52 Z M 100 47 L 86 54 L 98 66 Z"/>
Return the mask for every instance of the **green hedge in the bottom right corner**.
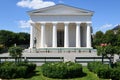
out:
<path id="1" fill-rule="evenodd" d="M 90 62 L 88 63 L 88 69 L 100 78 L 120 80 L 120 62 L 114 63 L 113 68 L 101 62 Z"/>

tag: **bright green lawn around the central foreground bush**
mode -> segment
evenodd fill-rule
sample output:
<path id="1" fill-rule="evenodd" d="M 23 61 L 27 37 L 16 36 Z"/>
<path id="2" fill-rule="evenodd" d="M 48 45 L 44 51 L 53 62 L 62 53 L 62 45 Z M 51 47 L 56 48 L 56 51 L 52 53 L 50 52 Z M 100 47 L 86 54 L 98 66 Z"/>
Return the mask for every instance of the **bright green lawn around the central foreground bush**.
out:
<path id="1" fill-rule="evenodd" d="M 86 76 L 82 78 L 73 78 L 73 79 L 52 79 L 52 78 L 47 78 L 44 77 L 41 73 L 41 68 L 37 67 L 36 68 L 36 74 L 33 77 L 30 78 L 19 78 L 19 79 L 14 79 L 14 80 L 108 80 L 108 79 L 99 79 L 94 73 L 90 72 L 87 67 L 83 67 L 83 71 L 86 73 Z"/>

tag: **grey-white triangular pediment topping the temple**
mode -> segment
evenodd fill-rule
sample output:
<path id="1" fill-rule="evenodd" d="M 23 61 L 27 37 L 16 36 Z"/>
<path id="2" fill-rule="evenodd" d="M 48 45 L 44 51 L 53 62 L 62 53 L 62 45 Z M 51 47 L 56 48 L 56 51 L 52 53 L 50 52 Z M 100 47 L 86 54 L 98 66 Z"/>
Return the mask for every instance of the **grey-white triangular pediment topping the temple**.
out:
<path id="1" fill-rule="evenodd" d="M 42 14 L 43 15 L 45 15 L 45 14 L 46 15 L 48 15 L 48 14 L 53 14 L 53 15 L 91 14 L 92 15 L 93 11 L 80 9 L 80 8 L 76 8 L 76 7 L 72 7 L 72 6 L 67 6 L 67 5 L 63 5 L 63 4 L 58 4 L 58 5 L 30 11 L 29 14 L 32 14 L 32 15 L 34 15 L 34 14 L 41 14 L 41 15 Z"/>

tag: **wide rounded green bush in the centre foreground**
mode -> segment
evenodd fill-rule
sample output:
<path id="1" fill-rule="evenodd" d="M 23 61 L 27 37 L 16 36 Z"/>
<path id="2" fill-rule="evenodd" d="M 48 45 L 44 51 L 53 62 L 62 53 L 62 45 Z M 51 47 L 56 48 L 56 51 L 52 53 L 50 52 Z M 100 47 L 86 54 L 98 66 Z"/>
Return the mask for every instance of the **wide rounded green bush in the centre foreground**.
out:
<path id="1" fill-rule="evenodd" d="M 42 73 L 51 78 L 75 78 L 83 75 L 82 65 L 73 62 L 45 63 L 42 65 Z"/>

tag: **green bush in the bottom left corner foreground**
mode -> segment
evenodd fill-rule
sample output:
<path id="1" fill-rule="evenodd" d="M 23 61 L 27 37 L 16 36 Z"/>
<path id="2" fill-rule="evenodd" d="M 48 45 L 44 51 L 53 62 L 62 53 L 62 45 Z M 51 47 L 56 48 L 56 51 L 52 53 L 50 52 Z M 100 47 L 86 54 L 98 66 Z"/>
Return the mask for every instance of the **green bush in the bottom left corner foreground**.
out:
<path id="1" fill-rule="evenodd" d="M 0 78 L 12 79 L 27 77 L 35 70 L 35 64 L 4 62 L 0 64 Z"/>

